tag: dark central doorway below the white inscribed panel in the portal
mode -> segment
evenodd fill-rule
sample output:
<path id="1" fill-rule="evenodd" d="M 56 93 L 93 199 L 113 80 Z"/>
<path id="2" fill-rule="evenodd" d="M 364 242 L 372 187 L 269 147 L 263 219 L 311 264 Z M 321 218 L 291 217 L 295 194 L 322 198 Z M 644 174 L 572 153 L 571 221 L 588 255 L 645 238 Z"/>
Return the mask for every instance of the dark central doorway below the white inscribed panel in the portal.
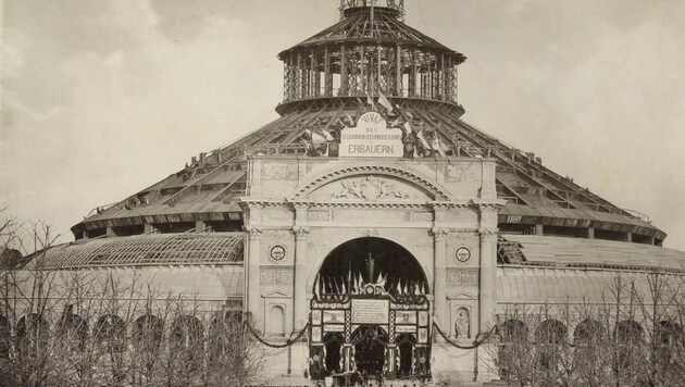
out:
<path id="1" fill-rule="evenodd" d="M 366 325 L 352 333 L 354 363 L 362 376 L 381 375 L 385 364 L 388 335 L 378 326 Z"/>

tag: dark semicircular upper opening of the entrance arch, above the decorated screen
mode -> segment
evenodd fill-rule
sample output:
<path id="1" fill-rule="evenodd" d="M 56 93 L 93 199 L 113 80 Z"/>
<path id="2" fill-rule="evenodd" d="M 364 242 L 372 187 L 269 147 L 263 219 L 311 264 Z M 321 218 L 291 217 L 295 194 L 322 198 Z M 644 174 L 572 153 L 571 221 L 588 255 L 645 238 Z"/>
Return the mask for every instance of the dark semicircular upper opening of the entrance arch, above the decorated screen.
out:
<path id="1" fill-rule="evenodd" d="M 373 237 L 352 239 L 333 250 L 314 286 L 325 294 L 354 294 L 361 282 L 383 284 L 390 295 L 428 294 L 416 259 L 398 244 Z"/>

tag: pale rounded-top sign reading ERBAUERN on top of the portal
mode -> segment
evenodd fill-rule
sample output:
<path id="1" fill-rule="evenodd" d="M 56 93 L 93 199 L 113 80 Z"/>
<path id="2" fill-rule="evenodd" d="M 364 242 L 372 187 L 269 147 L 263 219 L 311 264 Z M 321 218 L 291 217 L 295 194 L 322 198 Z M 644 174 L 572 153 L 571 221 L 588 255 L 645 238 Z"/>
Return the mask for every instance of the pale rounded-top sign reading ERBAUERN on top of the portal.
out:
<path id="1" fill-rule="evenodd" d="M 388 128 L 376 112 L 364 113 L 357 121 L 357 127 L 347 127 L 340 133 L 340 155 L 401 158 L 402 129 Z"/>

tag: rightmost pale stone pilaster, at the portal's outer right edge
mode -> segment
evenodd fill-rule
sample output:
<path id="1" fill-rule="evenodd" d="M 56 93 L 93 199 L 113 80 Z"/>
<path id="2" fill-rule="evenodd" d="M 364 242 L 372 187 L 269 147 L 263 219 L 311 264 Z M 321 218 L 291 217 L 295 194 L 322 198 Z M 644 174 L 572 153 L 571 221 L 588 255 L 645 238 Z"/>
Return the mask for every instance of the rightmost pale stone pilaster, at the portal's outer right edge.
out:
<path id="1" fill-rule="evenodd" d="M 497 205 L 481 205 L 481 278 L 478 291 L 478 332 L 495 324 L 497 308 Z"/>

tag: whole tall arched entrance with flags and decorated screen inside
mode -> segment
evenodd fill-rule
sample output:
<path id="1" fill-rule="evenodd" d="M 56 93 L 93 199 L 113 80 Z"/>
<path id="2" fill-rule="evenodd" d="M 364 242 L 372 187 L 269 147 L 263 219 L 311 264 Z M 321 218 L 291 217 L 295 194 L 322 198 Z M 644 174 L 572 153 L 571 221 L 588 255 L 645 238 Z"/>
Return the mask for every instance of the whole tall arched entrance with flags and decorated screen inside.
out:
<path id="1" fill-rule="evenodd" d="M 369 237 L 338 246 L 314 280 L 312 377 L 429 378 L 428 291 L 421 264 L 400 245 Z"/>

